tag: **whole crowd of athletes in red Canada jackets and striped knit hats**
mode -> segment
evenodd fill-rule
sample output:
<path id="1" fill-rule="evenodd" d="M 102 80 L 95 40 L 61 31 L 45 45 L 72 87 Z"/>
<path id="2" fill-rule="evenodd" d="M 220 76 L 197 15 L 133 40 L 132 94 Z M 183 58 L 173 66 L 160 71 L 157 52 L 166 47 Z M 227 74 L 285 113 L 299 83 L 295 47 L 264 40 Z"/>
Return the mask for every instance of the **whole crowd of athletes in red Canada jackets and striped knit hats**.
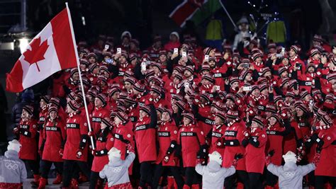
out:
<path id="1" fill-rule="evenodd" d="M 335 47 L 169 39 L 79 42 L 80 73 L 54 74 L 38 118 L 25 105 L 13 129 L 33 186 L 54 164 L 62 188 L 336 187 Z"/>

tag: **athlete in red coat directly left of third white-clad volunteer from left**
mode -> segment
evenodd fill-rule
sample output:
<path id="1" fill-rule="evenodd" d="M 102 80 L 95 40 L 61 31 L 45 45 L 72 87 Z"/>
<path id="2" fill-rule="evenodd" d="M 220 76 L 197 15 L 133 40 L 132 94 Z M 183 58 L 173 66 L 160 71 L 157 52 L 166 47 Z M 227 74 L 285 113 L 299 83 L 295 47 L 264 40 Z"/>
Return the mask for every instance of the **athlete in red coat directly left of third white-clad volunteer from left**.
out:
<path id="1" fill-rule="evenodd" d="M 183 114 L 183 125 L 180 127 L 177 144 L 181 145 L 183 166 L 186 168 L 184 188 L 198 188 L 199 175 L 195 171 L 196 159 L 206 159 L 206 139 L 203 131 L 194 123 L 192 113 Z"/>

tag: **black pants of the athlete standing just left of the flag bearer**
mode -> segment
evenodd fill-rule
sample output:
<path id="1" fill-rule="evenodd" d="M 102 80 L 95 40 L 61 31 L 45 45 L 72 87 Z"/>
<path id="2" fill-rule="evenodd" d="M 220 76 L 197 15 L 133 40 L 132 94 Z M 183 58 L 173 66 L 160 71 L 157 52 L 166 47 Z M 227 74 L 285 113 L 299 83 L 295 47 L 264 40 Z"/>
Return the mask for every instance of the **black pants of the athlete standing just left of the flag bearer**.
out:
<path id="1" fill-rule="evenodd" d="M 69 187 L 71 178 L 77 178 L 78 173 L 76 167 L 84 173 L 87 178 L 90 178 L 90 170 L 84 161 L 65 160 L 63 164 L 63 187 Z"/>

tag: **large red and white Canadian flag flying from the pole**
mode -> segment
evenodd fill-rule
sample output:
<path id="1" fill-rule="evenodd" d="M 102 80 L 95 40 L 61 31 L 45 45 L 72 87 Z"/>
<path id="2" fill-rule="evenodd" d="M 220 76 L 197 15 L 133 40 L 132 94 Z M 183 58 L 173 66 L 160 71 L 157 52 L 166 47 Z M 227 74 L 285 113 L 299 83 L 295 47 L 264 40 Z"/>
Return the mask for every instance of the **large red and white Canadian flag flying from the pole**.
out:
<path id="1" fill-rule="evenodd" d="M 69 9 L 57 14 L 30 41 L 6 75 L 6 91 L 21 92 L 57 71 L 77 67 L 78 55 Z"/>

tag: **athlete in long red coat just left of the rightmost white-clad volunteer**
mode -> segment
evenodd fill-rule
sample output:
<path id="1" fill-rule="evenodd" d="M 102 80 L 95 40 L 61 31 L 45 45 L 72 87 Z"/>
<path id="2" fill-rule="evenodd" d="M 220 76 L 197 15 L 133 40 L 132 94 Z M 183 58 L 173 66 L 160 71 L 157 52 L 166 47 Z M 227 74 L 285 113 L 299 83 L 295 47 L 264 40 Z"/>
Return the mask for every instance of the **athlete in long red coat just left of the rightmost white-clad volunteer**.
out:
<path id="1" fill-rule="evenodd" d="M 246 147 L 245 164 L 249 175 L 250 188 L 262 187 L 262 173 L 265 166 L 265 147 L 267 142 L 266 130 L 264 130 L 264 118 L 258 115 L 252 119 L 251 130 L 245 132 L 245 139 L 242 142 Z"/>

